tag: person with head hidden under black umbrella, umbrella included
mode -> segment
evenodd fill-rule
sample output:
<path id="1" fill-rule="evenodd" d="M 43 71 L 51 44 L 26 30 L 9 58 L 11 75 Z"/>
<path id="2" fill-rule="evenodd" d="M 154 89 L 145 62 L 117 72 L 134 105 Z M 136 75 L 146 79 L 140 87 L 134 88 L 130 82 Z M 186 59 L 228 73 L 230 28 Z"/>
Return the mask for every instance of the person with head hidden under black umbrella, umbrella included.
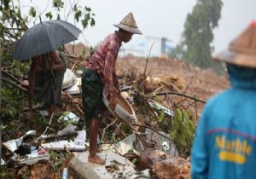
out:
<path id="1" fill-rule="evenodd" d="M 49 119 L 55 106 L 61 105 L 61 84 L 67 66 L 64 55 L 55 49 L 77 40 L 81 32 L 67 21 L 41 21 L 40 18 L 40 23 L 29 28 L 15 45 L 14 59 L 24 61 L 32 58 L 27 118 L 32 118 L 34 91 L 49 108 Z"/>

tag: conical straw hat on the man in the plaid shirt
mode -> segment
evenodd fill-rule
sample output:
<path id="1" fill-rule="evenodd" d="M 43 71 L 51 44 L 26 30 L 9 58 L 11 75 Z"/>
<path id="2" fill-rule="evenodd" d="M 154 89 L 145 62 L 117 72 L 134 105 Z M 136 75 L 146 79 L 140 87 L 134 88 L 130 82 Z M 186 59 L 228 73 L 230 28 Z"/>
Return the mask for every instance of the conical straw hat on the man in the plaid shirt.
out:
<path id="1" fill-rule="evenodd" d="M 138 28 L 137 28 L 137 24 L 136 21 L 133 17 L 132 13 L 129 13 L 125 16 L 125 18 L 123 20 L 120 21 L 119 24 L 114 24 L 113 26 L 116 26 L 120 29 L 123 29 L 127 32 L 131 32 L 134 34 L 143 34 Z"/>

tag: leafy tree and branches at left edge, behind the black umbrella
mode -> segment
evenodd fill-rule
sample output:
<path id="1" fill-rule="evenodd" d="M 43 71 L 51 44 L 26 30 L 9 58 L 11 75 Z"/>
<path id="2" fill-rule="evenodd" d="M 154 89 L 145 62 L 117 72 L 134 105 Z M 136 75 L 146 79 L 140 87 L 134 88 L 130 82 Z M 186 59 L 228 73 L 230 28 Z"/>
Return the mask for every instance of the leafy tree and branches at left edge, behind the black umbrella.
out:
<path id="1" fill-rule="evenodd" d="M 28 3 L 34 1 L 38 0 L 30 0 Z M 20 62 L 11 58 L 15 42 L 20 39 L 29 26 L 38 23 L 39 18 L 42 20 L 68 20 L 74 25 L 80 24 L 84 28 L 95 25 L 95 14 L 89 7 L 82 7 L 78 0 L 48 0 L 48 6 L 44 12 L 40 12 L 37 7 L 21 6 L 21 2 L 24 3 L 23 0 L 0 0 L 0 70 L 2 73 L 0 76 L 0 118 L 3 118 L 3 125 L 7 126 L 3 130 L 3 136 L 15 134 L 14 130 L 20 130 L 20 126 L 25 124 L 23 119 L 26 118 L 23 107 L 27 105 L 27 92 L 19 88 L 19 82 L 28 72 L 30 61 Z M 26 10 L 27 12 L 25 12 Z M 12 124 L 20 124 L 20 126 L 14 128 L 11 126 Z M 5 133 L 8 134 L 4 135 Z"/>

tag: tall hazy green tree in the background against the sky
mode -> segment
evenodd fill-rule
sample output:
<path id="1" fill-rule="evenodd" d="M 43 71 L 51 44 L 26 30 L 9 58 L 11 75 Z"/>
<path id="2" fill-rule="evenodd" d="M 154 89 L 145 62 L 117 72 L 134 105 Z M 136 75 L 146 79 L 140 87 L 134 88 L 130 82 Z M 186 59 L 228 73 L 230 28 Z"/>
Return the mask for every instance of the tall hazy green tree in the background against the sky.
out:
<path id="1" fill-rule="evenodd" d="M 198 0 L 191 14 L 187 15 L 184 23 L 182 42 L 174 49 L 172 55 L 189 61 L 200 67 L 221 67 L 212 61 L 211 45 L 213 29 L 218 26 L 221 16 L 221 0 Z"/>

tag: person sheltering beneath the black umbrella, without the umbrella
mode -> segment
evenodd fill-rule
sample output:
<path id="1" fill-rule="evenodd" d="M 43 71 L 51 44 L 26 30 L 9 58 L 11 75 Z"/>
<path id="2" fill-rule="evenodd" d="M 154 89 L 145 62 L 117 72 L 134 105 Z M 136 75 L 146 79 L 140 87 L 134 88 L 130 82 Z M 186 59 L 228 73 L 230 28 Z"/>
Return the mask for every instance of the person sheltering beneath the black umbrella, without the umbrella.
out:
<path id="1" fill-rule="evenodd" d="M 32 57 L 29 73 L 29 95 L 27 118 L 32 118 L 34 92 L 44 107 L 48 108 L 48 121 L 52 118 L 55 107 L 61 107 L 61 84 L 67 69 L 65 56 L 57 50 Z"/>

